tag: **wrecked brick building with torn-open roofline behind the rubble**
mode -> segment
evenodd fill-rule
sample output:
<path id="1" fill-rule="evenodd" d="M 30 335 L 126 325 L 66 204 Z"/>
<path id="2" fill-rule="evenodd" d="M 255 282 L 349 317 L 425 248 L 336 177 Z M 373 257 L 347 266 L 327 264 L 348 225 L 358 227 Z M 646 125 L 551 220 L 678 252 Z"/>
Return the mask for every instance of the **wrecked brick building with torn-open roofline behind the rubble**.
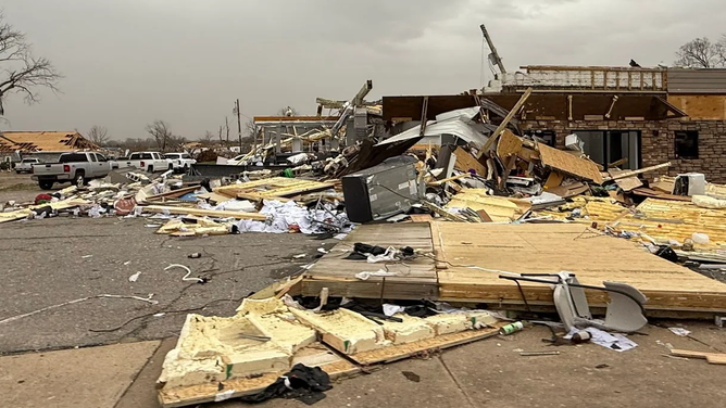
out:
<path id="1" fill-rule="evenodd" d="M 602 166 L 616 163 L 638 169 L 671 162 L 671 167 L 648 177 L 696 171 L 713 182 L 726 182 L 726 69 L 522 69 L 500 74 L 483 90 L 459 95 L 385 97 L 384 119 L 396 129 L 479 103 L 509 111 L 531 88 L 512 120 L 522 135 L 563 149 L 565 138 L 576 133 L 585 153 Z M 501 117 L 491 119 L 497 123 Z"/>

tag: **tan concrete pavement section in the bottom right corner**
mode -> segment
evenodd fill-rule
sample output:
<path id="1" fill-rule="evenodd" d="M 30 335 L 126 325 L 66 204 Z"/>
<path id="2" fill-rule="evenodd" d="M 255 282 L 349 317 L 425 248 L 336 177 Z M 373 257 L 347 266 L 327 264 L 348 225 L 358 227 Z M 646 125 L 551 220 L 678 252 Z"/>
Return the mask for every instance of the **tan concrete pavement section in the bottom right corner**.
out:
<path id="1" fill-rule="evenodd" d="M 665 357 L 668 349 L 658 341 L 676 348 L 709 347 L 665 328 L 648 326 L 643 331 L 647 335 L 631 336 L 638 347 L 623 353 L 594 344 L 548 346 L 540 339 L 549 339 L 550 332 L 538 327 L 451 349 L 441 358 L 459 386 L 480 406 L 723 406 L 726 390 L 716 379 L 723 378 L 724 367 Z M 726 331 L 719 334 L 723 342 Z M 522 357 L 520 349 L 561 355 Z"/>

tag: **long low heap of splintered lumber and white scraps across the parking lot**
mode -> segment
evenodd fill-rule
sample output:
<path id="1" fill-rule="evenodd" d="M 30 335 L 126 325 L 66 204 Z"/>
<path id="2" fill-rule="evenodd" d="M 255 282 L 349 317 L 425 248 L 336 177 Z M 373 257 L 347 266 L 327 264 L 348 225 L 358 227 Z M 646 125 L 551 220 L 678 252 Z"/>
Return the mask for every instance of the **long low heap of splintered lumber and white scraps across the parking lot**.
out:
<path id="1" fill-rule="evenodd" d="M 266 178 L 189 182 L 171 174 L 113 171 L 82 188 L 39 194 L 33 203 L 9 202 L 0 222 L 55 216 L 145 217 L 165 220 L 157 232 L 176 237 L 350 231 L 335 183 L 271 177 L 270 171 L 254 176 Z"/>

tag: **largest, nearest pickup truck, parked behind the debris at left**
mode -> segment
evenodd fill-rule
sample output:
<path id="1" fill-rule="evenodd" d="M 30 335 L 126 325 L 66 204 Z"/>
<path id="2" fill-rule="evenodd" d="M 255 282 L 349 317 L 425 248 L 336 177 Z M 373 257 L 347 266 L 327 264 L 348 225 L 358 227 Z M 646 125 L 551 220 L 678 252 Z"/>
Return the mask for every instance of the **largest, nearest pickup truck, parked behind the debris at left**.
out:
<path id="1" fill-rule="evenodd" d="M 43 190 L 50 190 L 57 182 L 72 182 L 78 187 L 89 180 L 102 178 L 111 171 L 111 164 L 100 153 L 62 153 L 58 163 L 33 166 L 33 180 Z"/>

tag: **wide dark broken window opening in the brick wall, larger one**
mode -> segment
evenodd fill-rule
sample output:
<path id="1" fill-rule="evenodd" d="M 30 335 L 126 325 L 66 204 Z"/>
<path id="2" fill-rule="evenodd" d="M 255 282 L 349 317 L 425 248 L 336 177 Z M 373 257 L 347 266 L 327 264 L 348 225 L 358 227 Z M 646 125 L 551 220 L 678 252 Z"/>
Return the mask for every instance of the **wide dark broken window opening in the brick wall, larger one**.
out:
<path id="1" fill-rule="evenodd" d="M 627 160 L 617 167 L 638 169 L 640 166 L 640 131 L 637 130 L 575 130 L 585 142 L 585 154 L 606 167 Z"/>

